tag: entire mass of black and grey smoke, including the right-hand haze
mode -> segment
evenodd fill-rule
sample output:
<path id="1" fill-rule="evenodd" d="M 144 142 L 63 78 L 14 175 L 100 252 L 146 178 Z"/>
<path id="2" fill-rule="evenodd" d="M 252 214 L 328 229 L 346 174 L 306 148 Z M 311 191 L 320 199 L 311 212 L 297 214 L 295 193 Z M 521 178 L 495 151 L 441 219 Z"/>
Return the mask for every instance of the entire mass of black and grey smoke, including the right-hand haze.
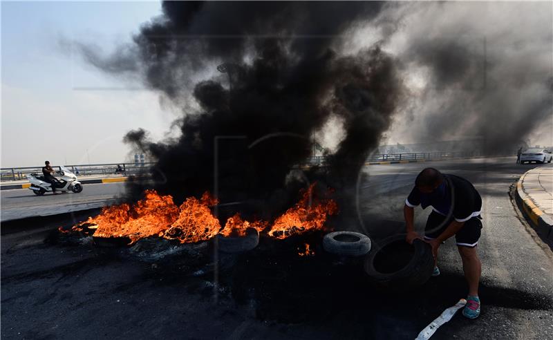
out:
<path id="1" fill-rule="evenodd" d="M 552 6 L 171 1 L 114 55 L 79 46 L 181 109 L 178 138 L 126 135 L 157 160 L 153 187 L 182 200 L 216 186 L 223 202 L 261 198 L 277 211 L 328 122 L 341 131 L 329 166 L 303 180 L 341 192 L 384 133 L 494 154 L 552 126 Z"/>

